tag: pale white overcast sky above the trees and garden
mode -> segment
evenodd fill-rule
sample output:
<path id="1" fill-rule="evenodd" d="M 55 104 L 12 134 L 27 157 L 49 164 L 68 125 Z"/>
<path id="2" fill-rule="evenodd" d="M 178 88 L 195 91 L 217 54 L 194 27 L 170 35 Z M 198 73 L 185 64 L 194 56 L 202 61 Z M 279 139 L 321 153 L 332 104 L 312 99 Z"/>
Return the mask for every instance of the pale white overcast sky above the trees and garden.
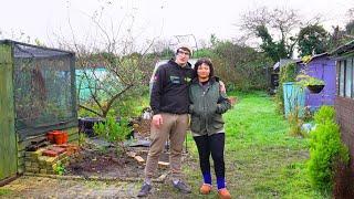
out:
<path id="1" fill-rule="evenodd" d="M 0 4 L 2 39 L 23 32 L 44 43 L 53 43 L 56 35 L 86 40 L 96 35 L 100 31 L 90 19 L 95 13 L 103 13 L 96 19 L 108 33 L 123 35 L 132 28 L 140 42 L 183 34 L 199 41 L 211 33 L 237 38 L 240 31 L 235 24 L 240 23 L 241 14 L 260 7 L 295 9 L 305 20 L 321 14 L 329 31 L 331 25 L 343 25 L 346 11 L 354 8 L 353 0 L 0 0 Z"/>

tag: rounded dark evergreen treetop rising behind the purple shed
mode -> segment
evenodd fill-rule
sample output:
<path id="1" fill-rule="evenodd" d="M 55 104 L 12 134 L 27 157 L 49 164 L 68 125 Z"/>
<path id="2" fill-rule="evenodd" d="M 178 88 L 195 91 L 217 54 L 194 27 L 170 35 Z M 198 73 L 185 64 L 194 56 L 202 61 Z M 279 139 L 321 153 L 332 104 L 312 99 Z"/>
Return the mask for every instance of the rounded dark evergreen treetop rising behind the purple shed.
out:
<path id="1" fill-rule="evenodd" d="M 310 24 L 299 32 L 300 55 L 320 54 L 327 50 L 329 33 L 320 24 Z"/>

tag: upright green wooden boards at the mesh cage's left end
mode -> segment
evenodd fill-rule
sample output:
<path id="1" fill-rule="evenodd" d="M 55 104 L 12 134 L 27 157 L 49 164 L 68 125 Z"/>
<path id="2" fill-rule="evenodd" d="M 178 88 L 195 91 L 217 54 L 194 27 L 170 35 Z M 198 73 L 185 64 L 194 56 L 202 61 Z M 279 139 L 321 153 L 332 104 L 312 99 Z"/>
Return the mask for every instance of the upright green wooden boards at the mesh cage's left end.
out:
<path id="1" fill-rule="evenodd" d="M 0 44 L 0 181 L 17 174 L 12 59 L 10 44 Z"/>

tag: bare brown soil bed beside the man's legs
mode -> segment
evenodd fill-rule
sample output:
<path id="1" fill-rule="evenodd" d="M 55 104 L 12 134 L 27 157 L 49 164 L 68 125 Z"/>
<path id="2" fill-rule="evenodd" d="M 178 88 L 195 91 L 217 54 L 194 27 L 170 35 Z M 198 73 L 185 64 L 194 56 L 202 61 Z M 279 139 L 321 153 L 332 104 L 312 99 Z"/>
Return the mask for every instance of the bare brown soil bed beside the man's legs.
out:
<path id="1" fill-rule="evenodd" d="M 137 119 L 133 124 L 135 140 L 148 140 L 150 135 L 150 119 Z M 90 143 L 90 142 L 88 142 Z M 132 145 L 127 145 L 132 146 Z M 148 146 L 148 145 L 147 145 Z M 133 151 L 145 161 L 139 164 L 134 157 L 127 155 Z M 126 147 L 125 151 L 118 151 L 111 146 L 83 146 L 82 150 L 71 157 L 70 165 L 65 167 L 65 175 L 83 177 L 98 176 L 102 178 L 144 178 L 145 163 L 148 147 Z M 166 148 L 159 157 L 159 161 L 169 163 L 169 151 Z M 155 177 L 168 172 L 169 166 L 159 166 Z"/>

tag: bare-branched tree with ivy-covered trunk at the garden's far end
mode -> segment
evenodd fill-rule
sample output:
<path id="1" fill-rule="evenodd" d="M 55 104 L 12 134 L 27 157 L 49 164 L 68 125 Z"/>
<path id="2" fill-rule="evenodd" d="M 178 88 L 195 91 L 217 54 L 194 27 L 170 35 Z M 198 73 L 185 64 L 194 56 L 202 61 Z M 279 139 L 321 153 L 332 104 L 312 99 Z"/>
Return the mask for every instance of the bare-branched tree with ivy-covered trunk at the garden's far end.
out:
<path id="1" fill-rule="evenodd" d="M 273 60 L 291 57 L 295 38 L 293 31 L 300 24 L 295 10 L 273 9 L 266 7 L 249 11 L 242 15 L 240 28 L 251 38 L 260 38 L 260 48 Z"/>

